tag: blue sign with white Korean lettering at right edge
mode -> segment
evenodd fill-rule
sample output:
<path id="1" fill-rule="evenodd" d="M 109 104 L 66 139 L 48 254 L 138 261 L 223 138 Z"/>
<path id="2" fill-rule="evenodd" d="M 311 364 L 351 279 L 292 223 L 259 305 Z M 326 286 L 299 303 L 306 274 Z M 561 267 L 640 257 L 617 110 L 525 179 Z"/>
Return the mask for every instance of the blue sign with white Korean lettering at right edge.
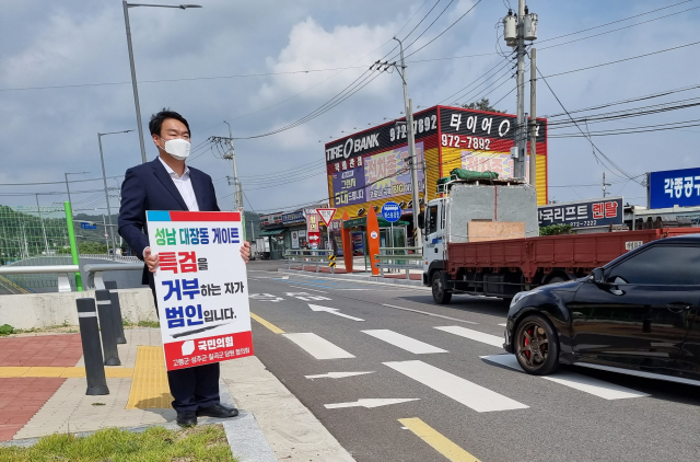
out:
<path id="1" fill-rule="evenodd" d="M 650 173 L 649 207 L 674 206 L 700 206 L 700 168 Z"/>

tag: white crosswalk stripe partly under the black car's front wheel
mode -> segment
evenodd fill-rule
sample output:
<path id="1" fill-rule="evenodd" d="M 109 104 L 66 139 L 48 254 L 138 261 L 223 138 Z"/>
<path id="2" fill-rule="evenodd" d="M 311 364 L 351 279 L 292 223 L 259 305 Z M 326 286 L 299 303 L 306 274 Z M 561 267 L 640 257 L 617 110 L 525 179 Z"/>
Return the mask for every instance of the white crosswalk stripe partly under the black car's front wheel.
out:
<path id="1" fill-rule="evenodd" d="M 523 372 L 523 368 L 521 368 L 521 365 L 517 362 L 515 355 L 480 356 L 480 358 L 486 361 L 495 362 L 497 365 L 505 366 Z M 585 393 L 591 393 L 604 400 L 649 396 L 646 393 L 638 392 L 635 390 L 628 389 L 627 386 L 604 382 L 603 380 L 582 376 L 575 372 L 559 371 L 551 376 L 541 376 L 541 378 Z"/>

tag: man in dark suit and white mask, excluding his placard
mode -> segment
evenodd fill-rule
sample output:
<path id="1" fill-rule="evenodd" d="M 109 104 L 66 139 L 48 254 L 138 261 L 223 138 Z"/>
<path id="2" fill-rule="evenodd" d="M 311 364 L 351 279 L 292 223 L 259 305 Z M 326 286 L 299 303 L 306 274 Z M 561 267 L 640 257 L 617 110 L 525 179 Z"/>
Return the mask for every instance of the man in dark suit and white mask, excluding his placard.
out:
<path id="1" fill-rule="evenodd" d="M 159 257 L 149 246 L 145 211 L 219 211 L 219 205 L 211 177 L 185 165 L 190 148 L 187 120 L 175 112 L 163 109 L 151 117 L 149 129 L 159 158 L 127 170 L 121 185 L 119 234 L 135 255 L 144 261 L 142 282 L 151 287 L 155 299 L 153 273 Z M 247 262 L 249 255 L 250 244 L 245 242 L 241 256 Z M 155 302 L 158 304 L 158 300 Z M 180 426 L 197 425 L 197 416 L 238 415 L 237 409 L 220 403 L 218 362 L 168 371 L 167 381 Z"/>

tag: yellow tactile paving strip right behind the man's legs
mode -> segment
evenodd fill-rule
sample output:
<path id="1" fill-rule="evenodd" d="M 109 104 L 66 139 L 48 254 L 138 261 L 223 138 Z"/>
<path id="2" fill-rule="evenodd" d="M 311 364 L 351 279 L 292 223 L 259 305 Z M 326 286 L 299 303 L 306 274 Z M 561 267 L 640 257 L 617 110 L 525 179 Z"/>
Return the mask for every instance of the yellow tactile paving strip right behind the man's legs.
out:
<path id="1" fill-rule="evenodd" d="M 167 384 L 163 347 L 140 346 L 127 409 L 167 409 L 173 396 Z"/>

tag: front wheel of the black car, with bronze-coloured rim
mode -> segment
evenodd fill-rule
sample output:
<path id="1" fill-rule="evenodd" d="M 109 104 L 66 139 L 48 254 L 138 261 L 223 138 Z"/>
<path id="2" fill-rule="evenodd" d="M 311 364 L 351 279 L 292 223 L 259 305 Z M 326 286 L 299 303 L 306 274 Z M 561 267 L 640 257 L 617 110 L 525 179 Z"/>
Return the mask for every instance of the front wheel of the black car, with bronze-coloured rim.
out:
<path id="1" fill-rule="evenodd" d="M 547 376 L 559 368 L 559 338 L 545 317 L 529 315 L 521 321 L 513 343 L 517 362 L 525 372 Z"/>

